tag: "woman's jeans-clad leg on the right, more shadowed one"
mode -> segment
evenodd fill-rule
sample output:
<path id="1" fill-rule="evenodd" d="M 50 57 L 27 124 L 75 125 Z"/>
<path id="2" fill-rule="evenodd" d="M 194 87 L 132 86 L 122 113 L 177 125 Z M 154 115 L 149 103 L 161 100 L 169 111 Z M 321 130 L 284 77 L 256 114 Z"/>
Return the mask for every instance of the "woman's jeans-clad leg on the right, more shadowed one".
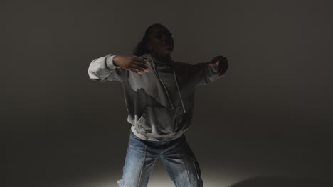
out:
<path id="1" fill-rule="evenodd" d="M 164 145 L 161 161 L 176 187 L 201 187 L 201 170 L 185 135 Z"/>

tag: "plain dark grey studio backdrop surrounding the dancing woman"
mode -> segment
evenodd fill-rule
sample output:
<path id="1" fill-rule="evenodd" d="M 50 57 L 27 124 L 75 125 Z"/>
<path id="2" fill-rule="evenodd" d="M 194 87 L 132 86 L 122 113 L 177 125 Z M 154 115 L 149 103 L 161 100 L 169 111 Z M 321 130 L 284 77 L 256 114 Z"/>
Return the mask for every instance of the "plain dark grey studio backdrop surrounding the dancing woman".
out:
<path id="1" fill-rule="evenodd" d="M 88 66 L 132 55 L 144 30 L 162 23 L 174 33 L 174 60 L 224 55 L 230 64 L 196 89 L 186 132 L 205 186 L 267 175 L 332 183 L 332 5 L 1 1 L 2 181 L 116 186 L 130 128 L 124 93 L 120 82 L 90 80 Z M 156 183 L 172 186 L 159 162 Z"/>

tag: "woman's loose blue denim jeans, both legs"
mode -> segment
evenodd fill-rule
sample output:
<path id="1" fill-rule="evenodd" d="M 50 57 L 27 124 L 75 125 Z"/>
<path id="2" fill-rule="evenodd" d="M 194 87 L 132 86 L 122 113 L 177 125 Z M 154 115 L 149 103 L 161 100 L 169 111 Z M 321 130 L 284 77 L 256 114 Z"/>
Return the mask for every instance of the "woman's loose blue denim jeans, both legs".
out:
<path id="1" fill-rule="evenodd" d="M 171 141 L 149 141 L 139 139 L 132 130 L 122 169 L 120 187 L 146 187 L 156 160 L 160 158 L 176 187 L 203 186 L 199 163 L 185 135 Z"/>

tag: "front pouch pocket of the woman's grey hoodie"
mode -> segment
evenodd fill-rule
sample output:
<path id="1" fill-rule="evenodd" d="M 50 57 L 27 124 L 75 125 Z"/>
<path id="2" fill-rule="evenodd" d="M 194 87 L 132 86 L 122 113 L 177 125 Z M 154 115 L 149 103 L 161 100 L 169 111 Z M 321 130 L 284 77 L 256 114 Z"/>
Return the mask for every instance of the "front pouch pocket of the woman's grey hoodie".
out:
<path id="1" fill-rule="evenodd" d="M 181 130 L 182 117 L 183 112 L 179 107 L 171 110 L 163 106 L 145 106 L 137 124 L 145 133 L 166 135 Z"/>

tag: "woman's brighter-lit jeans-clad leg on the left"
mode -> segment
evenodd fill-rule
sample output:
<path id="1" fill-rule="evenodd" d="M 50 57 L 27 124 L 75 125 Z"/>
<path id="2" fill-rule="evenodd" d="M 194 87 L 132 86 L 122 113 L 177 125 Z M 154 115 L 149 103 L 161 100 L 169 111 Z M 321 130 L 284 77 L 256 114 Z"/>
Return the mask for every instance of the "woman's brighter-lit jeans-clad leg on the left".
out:
<path id="1" fill-rule="evenodd" d="M 159 151 L 159 150 L 157 150 Z M 122 169 L 122 179 L 117 181 L 120 187 L 146 187 L 157 155 L 147 143 L 140 140 L 131 131 Z"/>

